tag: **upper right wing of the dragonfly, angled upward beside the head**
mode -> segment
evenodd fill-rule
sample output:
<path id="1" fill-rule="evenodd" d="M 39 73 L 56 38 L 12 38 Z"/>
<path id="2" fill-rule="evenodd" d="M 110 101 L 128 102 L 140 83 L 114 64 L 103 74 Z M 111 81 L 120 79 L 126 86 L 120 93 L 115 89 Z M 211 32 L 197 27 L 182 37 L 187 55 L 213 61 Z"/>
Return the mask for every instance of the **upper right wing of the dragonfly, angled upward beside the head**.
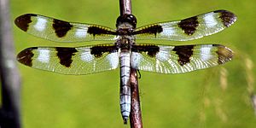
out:
<path id="1" fill-rule="evenodd" d="M 217 10 L 184 20 L 167 21 L 137 28 L 137 39 L 187 41 L 224 30 L 236 21 L 236 15 Z"/>

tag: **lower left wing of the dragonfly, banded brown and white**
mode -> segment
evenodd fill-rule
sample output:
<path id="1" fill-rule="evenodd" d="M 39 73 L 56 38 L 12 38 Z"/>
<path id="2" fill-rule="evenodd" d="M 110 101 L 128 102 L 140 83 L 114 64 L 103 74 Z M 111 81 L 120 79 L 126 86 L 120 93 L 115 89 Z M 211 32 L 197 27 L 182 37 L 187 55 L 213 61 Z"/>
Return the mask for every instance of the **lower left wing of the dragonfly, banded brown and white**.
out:
<path id="1" fill-rule="evenodd" d="M 77 48 L 32 47 L 17 55 L 20 63 L 33 68 L 63 74 L 89 74 L 115 69 L 119 54 L 114 44 Z"/>

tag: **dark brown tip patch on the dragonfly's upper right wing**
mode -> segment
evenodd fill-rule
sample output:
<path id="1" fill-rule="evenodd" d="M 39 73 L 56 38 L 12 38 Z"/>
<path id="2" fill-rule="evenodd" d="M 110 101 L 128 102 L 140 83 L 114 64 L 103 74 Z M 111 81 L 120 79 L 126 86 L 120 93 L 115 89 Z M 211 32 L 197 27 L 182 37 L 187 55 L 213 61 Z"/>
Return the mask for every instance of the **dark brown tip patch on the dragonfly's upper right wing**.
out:
<path id="1" fill-rule="evenodd" d="M 236 21 L 236 15 L 226 10 L 217 10 L 214 13 L 219 13 L 219 18 L 222 20 L 224 26 L 229 27 Z"/>

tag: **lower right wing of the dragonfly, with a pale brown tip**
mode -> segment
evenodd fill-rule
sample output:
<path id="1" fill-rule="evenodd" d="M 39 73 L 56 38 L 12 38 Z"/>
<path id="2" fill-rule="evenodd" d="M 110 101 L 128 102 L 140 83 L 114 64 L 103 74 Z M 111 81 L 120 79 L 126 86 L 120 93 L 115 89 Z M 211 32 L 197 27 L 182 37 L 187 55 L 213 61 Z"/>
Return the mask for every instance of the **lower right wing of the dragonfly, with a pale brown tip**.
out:
<path id="1" fill-rule="evenodd" d="M 141 44 L 132 48 L 131 67 L 154 73 L 187 73 L 224 64 L 232 57 L 232 50 L 220 44 Z"/>

